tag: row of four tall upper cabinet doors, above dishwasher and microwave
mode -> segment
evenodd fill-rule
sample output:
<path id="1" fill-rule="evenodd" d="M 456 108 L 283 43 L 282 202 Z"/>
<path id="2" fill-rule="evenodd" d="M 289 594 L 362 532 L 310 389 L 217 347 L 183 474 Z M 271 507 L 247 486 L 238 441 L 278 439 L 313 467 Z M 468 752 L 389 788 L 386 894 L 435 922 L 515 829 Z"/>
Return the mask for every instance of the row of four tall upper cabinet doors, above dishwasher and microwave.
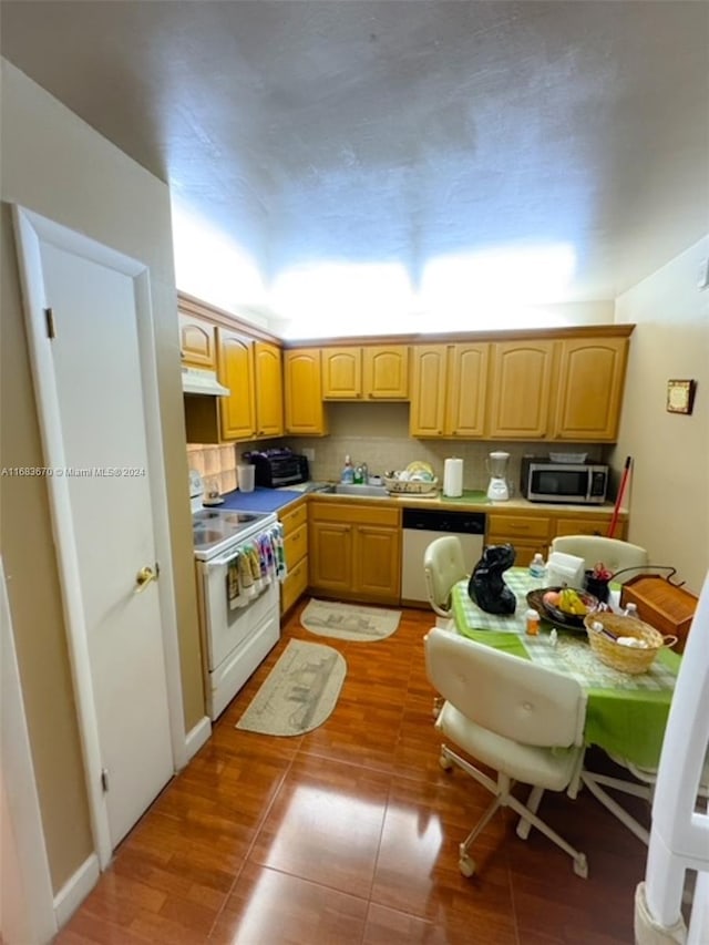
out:
<path id="1" fill-rule="evenodd" d="M 613 442 L 628 338 L 525 338 L 411 349 L 412 436 Z"/>

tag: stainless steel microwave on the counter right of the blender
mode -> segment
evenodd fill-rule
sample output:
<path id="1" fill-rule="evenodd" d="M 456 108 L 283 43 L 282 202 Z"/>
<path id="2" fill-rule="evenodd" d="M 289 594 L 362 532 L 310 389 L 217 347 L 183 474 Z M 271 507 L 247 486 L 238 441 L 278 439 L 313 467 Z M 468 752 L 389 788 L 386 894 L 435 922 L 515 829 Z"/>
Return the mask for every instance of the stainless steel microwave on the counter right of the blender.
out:
<path id="1" fill-rule="evenodd" d="M 554 463 L 537 456 L 522 460 L 521 492 L 531 502 L 600 504 L 608 492 L 608 466 Z"/>

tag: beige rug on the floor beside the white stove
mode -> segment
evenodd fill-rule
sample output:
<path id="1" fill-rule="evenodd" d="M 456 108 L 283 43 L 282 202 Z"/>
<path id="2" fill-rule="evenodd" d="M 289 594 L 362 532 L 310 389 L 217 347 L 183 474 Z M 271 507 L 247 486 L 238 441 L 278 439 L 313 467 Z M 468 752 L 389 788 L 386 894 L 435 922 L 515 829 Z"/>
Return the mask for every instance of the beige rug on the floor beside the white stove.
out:
<path id="1" fill-rule="evenodd" d="M 278 736 L 312 731 L 335 708 L 346 674 L 332 647 L 290 640 L 235 727 Z"/>

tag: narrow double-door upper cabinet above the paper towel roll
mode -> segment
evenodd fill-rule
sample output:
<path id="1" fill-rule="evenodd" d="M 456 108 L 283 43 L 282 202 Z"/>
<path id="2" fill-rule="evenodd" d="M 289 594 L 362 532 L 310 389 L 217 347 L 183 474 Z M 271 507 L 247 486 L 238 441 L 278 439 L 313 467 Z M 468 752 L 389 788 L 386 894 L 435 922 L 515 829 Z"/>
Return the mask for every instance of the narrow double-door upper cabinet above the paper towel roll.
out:
<path id="1" fill-rule="evenodd" d="M 412 349 L 412 436 L 482 436 L 490 345 L 417 345 Z"/>

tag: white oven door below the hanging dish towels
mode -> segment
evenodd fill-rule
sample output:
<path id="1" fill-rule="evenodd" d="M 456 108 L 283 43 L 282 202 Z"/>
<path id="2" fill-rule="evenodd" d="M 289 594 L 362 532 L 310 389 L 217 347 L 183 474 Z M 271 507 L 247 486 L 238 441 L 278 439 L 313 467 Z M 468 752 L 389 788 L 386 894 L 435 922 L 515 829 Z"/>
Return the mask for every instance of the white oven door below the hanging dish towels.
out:
<path id="1" fill-rule="evenodd" d="M 274 576 L 261 593 L 245 607 L 229 606 L 228 565 L 234 553 L 197 562 L 204 644 L 209 672 L 243 645 L 274 614 L 278 615 L 278 579 Z"/>

